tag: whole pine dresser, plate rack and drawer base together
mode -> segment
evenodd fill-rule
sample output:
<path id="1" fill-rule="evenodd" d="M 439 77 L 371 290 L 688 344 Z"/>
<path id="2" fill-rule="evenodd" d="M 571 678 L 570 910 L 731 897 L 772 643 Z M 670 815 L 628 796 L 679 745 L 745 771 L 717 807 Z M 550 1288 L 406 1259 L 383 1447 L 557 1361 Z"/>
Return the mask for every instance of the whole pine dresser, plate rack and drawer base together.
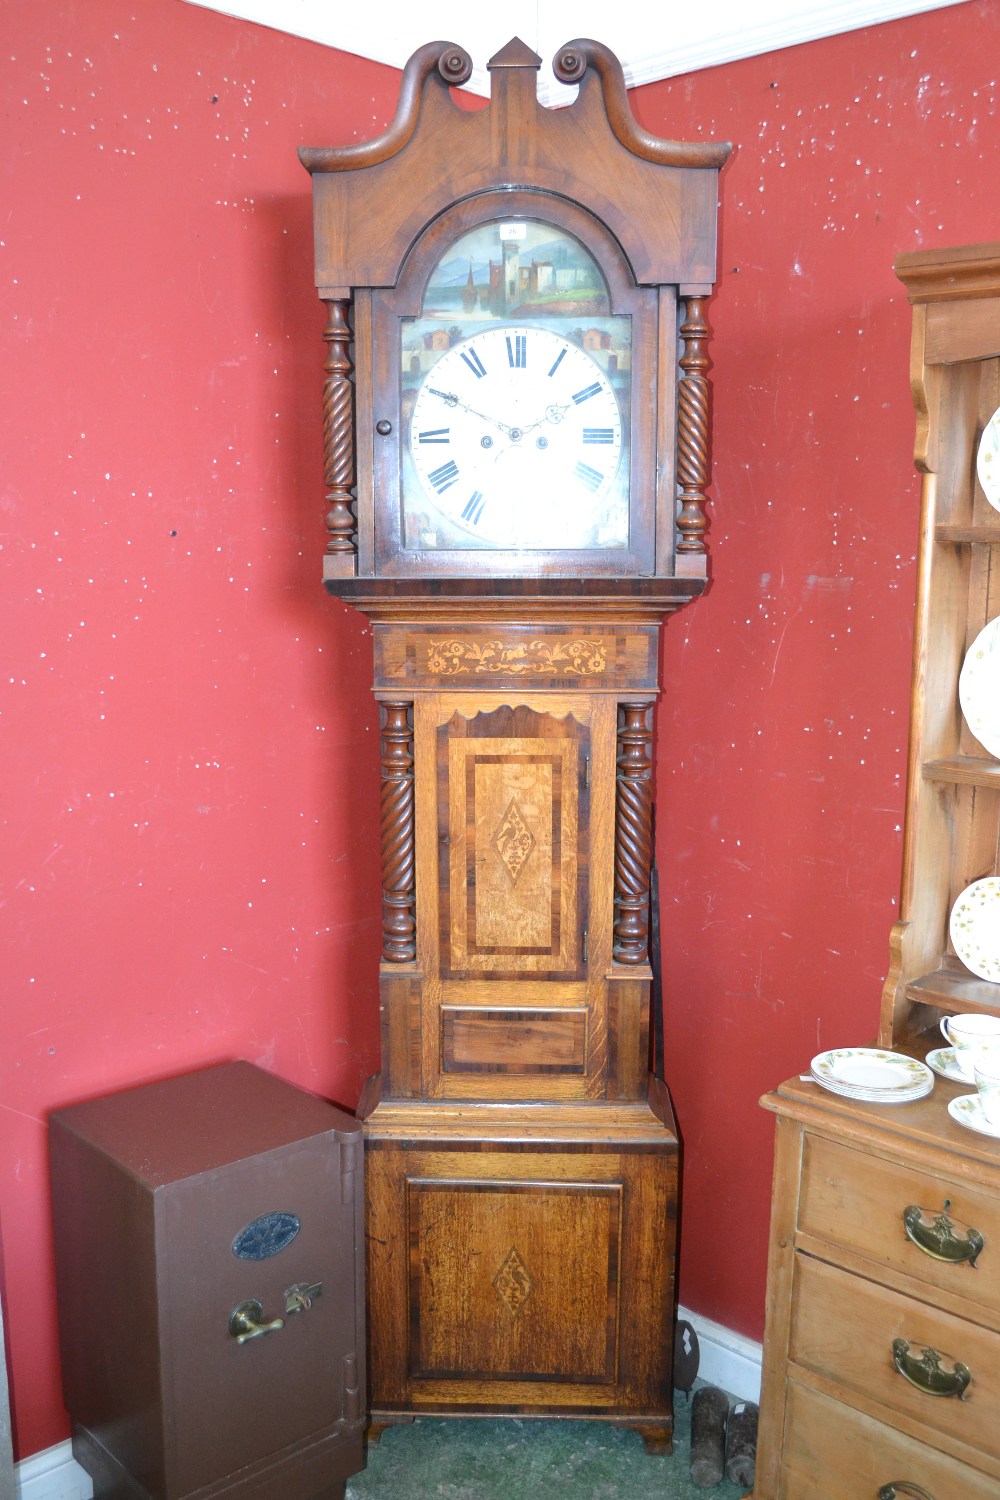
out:
<path id="1" fill-rule="evenodd" d="M 978 480 L 1000 406 L 1000 244 L 903 255 L 924 476 L 900 921 L 879 1042 L 925 1056 L 955 1012 L 1000 1014 L 949 939 L 1000 874 L 1000 764 L 958 681 L 1000 612 L 1000 514 Z M 970 1083 L 904 1106 L 792 1080 L 777 1114 L 756 1500 L 1000 1494 L 1000 1142 L 957 1124 Z"/>

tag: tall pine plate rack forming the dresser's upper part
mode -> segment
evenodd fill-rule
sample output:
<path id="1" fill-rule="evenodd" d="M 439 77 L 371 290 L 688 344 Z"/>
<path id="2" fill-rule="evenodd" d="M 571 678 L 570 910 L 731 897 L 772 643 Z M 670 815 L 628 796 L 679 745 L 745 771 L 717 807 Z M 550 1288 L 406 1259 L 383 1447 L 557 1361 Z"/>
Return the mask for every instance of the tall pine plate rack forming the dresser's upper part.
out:
<path id="1" fill-rule="evenodd" d="M 961 892 L 1000 873 L 1000 760 L 972 734 L 958 694 L 969 648 L 1000 615 L 1000 514 L 976 472 L 982 432 L 1000 406 L 1000 244 L 918 250 L 900 256 L 897 273 L 913 304 L 913 458 L 924 482 L 903 884 L 883 1047 L 936 1030 L 942 1011 L 1000 1014 L 1000 984 L 972 975 L 949 939 Z"/>

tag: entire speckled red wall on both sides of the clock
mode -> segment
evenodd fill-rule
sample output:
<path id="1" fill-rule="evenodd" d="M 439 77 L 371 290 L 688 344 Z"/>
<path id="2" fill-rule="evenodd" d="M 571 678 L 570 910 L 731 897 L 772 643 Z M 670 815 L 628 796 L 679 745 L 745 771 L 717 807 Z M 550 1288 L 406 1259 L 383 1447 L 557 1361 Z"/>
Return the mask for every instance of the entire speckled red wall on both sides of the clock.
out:
<path id="1" fill-rule="evenodd" d="M 376 720 L 318 584 L 300 144 L 399 75 L 178 0 L 6 16 L 0 1230 L 21 1454 L 58 1395 L 45 1119 L 244 1056 L 376 1066 Z M 429 28 L 429 34 L 433 28 Z M 457 38 L 462 40 L 462 38 Z M 757 1096 L 874 1029 L 900 868 L 918 486 L 898 250 L 997 236 L 1000 10 L 637 90 L 732 138 L 714 584 L 664 645 L 681 1296 L 760 1335 Z"/>

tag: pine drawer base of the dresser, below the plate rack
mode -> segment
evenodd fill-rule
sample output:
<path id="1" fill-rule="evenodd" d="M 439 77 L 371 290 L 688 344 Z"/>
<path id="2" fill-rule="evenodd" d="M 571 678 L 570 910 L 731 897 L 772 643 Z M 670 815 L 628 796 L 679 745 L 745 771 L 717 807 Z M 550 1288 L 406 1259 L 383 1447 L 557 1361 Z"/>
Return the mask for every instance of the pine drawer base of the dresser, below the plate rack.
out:
<path id="1" fill-rule="evenodd" d="M 855 1500 L 892 1480 L 933 1500 L 1000 1494 L 1000 1142 L 951 1119 L 961 1092 L 939 1078 L 876 1106 L 793 1078 L 762 1101 L 778 1143 L 754 1500 Z M 928 1254 L 907 1234 L 913 1208 L 982 1248 Z M 966 1366 L 964 1392 L 906 1378 L 894 1340 L 948 1376 Z"/>

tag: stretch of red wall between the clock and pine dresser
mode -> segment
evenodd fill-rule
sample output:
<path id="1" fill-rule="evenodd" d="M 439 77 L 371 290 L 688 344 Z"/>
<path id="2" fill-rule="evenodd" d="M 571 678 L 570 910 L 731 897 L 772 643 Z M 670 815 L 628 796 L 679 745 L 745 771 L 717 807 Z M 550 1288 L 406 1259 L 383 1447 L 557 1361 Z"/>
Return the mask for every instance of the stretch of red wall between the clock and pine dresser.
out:
<path id="1" fill-rule="evenodd" d="M 639 90 L 736 144 L 714 327 L 714 579 L 664 638 L 658 861 L 681 1298 L 763 1328 L 772 1118 L 870 1041 L 897 916 L 919 480 L 901 250 L 1000 238 L 1000 6 Z"/>

